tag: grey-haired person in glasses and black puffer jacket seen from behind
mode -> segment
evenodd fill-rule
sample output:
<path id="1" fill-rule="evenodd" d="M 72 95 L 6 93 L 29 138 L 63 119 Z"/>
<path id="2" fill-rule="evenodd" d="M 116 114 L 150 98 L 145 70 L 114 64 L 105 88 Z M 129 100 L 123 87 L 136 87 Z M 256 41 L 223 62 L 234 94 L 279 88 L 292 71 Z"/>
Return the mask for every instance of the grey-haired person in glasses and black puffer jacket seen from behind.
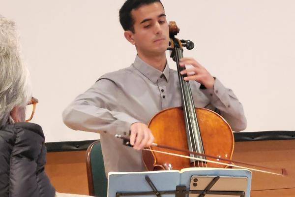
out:
<path id="1" fill-rule="evenodd" d="M 19 51 L 15 23 L 0 15 L 0 197 L 87 197 L 57 193 L 45 173 L 44 133 L 27 122 L 34 107 L 26 120 L 38 100 Z"/>

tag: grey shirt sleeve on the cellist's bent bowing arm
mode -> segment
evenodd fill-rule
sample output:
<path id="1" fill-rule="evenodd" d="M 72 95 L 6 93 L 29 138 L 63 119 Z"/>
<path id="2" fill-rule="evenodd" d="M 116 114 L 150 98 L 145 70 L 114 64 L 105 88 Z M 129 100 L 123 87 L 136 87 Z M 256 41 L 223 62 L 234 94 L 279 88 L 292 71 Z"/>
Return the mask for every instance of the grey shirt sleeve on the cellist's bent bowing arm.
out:
<path id="1" fill-rule="evenodd" d="M 112 110 L 120 103 L 119 95 L 115 82 L 99 79 L 66 107 L 62 113 L 64 124 L 73 130 L 128 136 L 131 124 L 140 121 Z"/>

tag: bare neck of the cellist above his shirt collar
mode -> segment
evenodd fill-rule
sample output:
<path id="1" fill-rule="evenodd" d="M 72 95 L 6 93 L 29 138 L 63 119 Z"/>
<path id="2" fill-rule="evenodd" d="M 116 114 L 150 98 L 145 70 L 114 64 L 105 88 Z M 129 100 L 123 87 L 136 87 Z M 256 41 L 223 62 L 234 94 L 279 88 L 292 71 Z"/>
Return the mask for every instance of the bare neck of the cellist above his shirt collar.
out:
<path id="1" fill-rule="evenodd" d="M 140 57 L 140 59 L 142 59 L 148 65 L 160 70 L 161 72 L 163 72 L 166 66 L 165 53 L 163 53 L 162 55 L 151 55 L 151 56 L 138 53 L 138 57 Z"/>

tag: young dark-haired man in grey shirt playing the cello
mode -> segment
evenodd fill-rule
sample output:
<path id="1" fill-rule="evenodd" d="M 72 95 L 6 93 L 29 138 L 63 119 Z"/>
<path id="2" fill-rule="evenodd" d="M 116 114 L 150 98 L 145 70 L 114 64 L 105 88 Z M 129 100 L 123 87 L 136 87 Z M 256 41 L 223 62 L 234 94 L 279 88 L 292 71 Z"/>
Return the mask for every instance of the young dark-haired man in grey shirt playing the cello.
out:
<path id="1" fill-rule="evenodd" d="M 177 71 L 166 60 L 169 27 L 160 0 L 127 0 L 119 11 L 125 38 L 136 47 L 134 63 L 101 76 L 64 110 L 65 125 L 74 130 L 99 132 L 106 173 L 145 171 L 144 147 L 154 137 L 148 122 L 165 108 L 181 106 Z M 196 107 L 218 112 L 234 131 L 246 128 L 243 107 L 232 90 L 225 88 L 193 58 L 180 65 L 192 65 L 181 74 L 193 72 L 184 80 L 190 86 Z M 114 137 L 130 137 L 130 147 Z"/>

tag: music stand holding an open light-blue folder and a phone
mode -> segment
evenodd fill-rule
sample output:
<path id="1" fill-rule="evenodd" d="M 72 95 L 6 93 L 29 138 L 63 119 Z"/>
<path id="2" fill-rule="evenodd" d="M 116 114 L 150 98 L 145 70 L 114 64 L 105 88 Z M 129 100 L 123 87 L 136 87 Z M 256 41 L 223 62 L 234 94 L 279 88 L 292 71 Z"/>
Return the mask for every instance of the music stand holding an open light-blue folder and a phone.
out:
<path id="1" fill-rule="evenodd" d="M 110 172 L 108 197 L 250 197 L 250 186 L 244 169 Z"/>

